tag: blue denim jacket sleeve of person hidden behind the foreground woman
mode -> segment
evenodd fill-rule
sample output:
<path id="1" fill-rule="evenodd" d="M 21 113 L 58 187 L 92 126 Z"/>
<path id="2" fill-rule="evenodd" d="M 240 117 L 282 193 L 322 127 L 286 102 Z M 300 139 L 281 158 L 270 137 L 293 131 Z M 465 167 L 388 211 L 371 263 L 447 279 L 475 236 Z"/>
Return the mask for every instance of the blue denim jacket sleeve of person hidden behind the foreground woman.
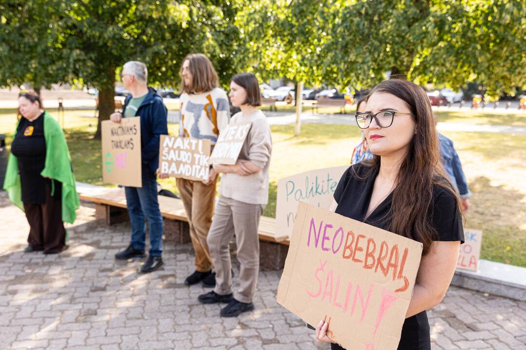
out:
<path id="1" fill-rule="evenodd" d="M 440 155 L 442 156 L 442 164 L 449 179 L 453 185 L 457 188 L 460 198 L 469 198 L 471 193 L 469 192 L 468 183 L 466 181 L 466 175 L 462 171 L 462 164 L 460 164 L 460 158 L 453 147 L 453 141 L 449 140 L 446 136 L 438 133 L 438 140 L 440 145 Z"/>

